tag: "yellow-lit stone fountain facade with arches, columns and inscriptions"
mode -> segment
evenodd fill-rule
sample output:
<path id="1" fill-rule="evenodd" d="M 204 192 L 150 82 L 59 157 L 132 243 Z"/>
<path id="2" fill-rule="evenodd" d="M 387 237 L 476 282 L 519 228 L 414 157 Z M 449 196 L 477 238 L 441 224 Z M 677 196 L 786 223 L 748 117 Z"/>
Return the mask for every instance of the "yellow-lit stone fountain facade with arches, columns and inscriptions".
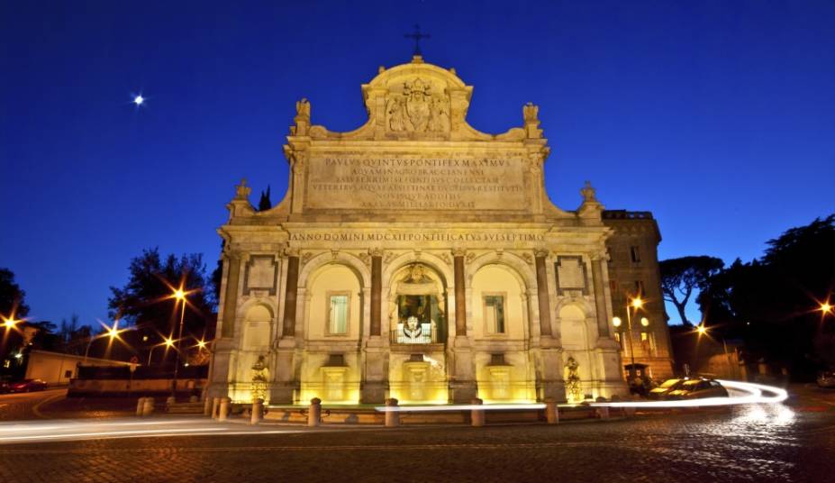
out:
<path id="1" fill-rule="evenodd" d="M 583 396 L 624 394 L 603 205 L 551 204 L 537 106 L 486 134 L 471 95 L 415 57 L 362 86 L 355 131 L 296 104 L 284 200 L 241 183 L 219 230 L 212 396 L 249 402 L 259 356 L 274 405 L 566 400 L 569 358 Z"/>

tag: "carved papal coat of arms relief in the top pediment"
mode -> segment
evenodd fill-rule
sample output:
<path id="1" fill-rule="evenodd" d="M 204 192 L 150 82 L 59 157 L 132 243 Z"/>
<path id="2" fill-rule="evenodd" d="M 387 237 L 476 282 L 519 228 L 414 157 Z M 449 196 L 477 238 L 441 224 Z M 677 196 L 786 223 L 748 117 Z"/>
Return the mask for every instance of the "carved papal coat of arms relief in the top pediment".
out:
<path id="1" fill-rule="evenodd" d="M 393 132 L 449 132 L 449 99 L 420 78 L 404 82 L 403 94 L 389 96 L 386 115 Z"/>

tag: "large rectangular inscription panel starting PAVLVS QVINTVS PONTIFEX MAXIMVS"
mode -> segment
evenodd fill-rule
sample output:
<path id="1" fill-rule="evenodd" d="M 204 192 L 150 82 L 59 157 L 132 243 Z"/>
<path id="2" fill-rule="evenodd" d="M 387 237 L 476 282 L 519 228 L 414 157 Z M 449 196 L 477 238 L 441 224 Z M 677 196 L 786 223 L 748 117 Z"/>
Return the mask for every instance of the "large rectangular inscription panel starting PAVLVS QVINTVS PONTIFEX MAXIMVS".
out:
<path id="1" fill-rule="evenodd" d="M 525 208 L 521 159 L 320 157 L 308 176 L 311 208 Z"/>

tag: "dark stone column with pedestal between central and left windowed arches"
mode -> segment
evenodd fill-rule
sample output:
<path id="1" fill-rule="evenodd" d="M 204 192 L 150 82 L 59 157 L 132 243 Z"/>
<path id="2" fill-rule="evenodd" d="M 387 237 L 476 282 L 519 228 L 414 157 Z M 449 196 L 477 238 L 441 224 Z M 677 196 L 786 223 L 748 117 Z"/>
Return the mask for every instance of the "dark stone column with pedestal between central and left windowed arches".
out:
<path id="1" fill-rule="evenodd" d="M 368 328 L 368 340 L 365 348 L 366 370 L 362 381 L 360 400 L 366 404 L 379 404 L 386 398 L 386 347 L 382 329 L 383 299 L 383 251 L 371 250 L 371 318 Z"/>

